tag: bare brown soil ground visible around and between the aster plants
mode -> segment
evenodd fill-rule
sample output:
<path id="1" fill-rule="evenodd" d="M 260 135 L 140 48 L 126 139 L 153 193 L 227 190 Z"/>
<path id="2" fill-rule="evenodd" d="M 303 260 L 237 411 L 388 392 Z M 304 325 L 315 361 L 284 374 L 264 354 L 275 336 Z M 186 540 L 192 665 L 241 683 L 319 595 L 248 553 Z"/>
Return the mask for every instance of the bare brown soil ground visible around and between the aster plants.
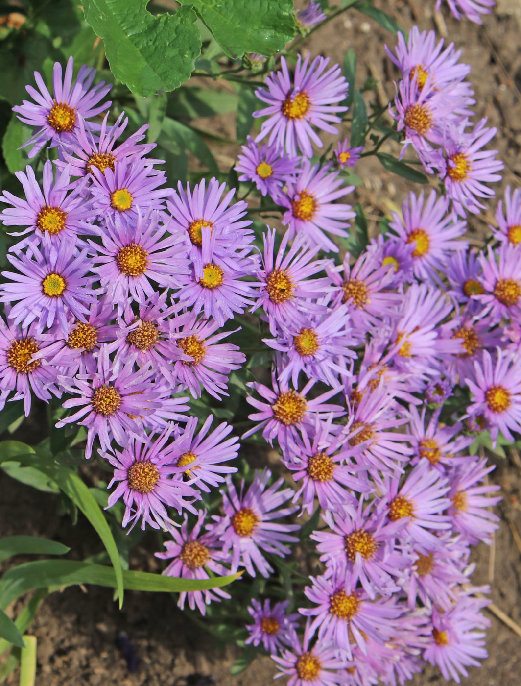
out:
<path id="1" fill-rule="evenodd" d="M 463 60 L 472 65 L 471 80 L 477 95 L 479 116 L 489 117 L 498 127 L 496 145 L 505 161 L 505 178 L 498 193 L 507 184 L 520 185 L 521 158 L 521 3 L 520 0 L 499 0 L 494 15 L 485 17 L 483 26 L 457 22 L 448 13 L 435 15 L 435 0 L 381 0 L 400 24 L 409 29 L 417 24 L 421 29 L 435 29 L 447 40 L 455 40 L 463 48 Z M 378 98 L 382 101 L 393 94 L 385 42 L 393 44 L 390 34 L 372 20 L 356 12 L 348 12 L 317 31 L 306 40 L 304 49 L 324 54 L 332 62 L 342 62 L 346 49 L 353 48 L 359 61 L 361 86 L 367 75 L 379 82 Z M 373 96 L 372 96 L 373 97 Z M 231 117 L 213 121 L 202 119 L 202 128 L 233 137 Z M 346 131 L 347 133 L 347 131 Z M 237 148 L 216 151 L 222 169 L 228 169 Z M 388 152 L 392 152 L 389 148 Z M 402 179 L 383 171 L 373 160 L 363 161 L 356 172 L 363 178 L 356 196 L 370 219 L 399 205 L 409 187 Z M 481 233 L 492 215 L 472 218 L 471 229 Z M 501 527 L 494 546 L 478 547 L 474 559 L 477 567 L 473 580 L 492 584 L 495 606 L 521 624 L 521 460 L 517 453 L 507 460 L 494 460 L 497 469 L 494 481 L 502 486 L 504 500 L 498 508 Z M 40 493 L 13 482 L 0 474 L 1 534 L 37 534 L 69 543 L 75 551 L 90 554 L 96 545 L 93 533 L 80 519 L 73 528 L 67 517 L 56 514 L 56 497 Z M 42 513 L 48 513 L 47 517 Z M 97 549 L 94 547 L 94 549 Z M 132 567 L 156 571 L 154 539 L 143 539 Z M 16 560 L 15 560 L 16 561 Z M 19 560 L 21 561 L 21 560 Z M 14 608 L 16 611 L 16 608 Z M 489 659 L 481 668 L 471 668 L 463 683 L 473 686 L 518 686 L 520 684 L 520 637 L 489 612 L 492 627 L 487 636 Z M 138 671 L 130 674 L 123 654 L 117 648 L 119 632 L 125 631 L 132 640 L 140 660 Z M 229 674 L 230 665 L 238 655 L 234 646 L 223 650 L 195 628 L 175 608 L 175 604 L 160 595 L 128 593 L 123 610 L 117 610 L 112 593 L 107 589 L 72 587 L 51 595 L 40 608 L 32 625 L 38 638 L 38 676 L 36 686 L 182 686 L 184 677 L 195 673 L 211 675 L 220 686 L 264 686 L 275 673 L 274 663 L 260 658 L 236 678 Z M 444 680 L 430 668 L 417 677 L 415 686 L 441 684 Z M 8 684 L 17 683 L 11 676 Z"/>

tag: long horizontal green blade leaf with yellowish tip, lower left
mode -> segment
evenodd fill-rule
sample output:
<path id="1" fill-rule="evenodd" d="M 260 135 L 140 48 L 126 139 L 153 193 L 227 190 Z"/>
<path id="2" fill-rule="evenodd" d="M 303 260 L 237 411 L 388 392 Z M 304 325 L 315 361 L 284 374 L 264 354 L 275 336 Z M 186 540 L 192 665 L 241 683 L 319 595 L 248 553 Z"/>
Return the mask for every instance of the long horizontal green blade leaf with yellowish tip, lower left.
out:
<path id="1" fill-rule="evenodd" d="M 210 579 L 178 579 L 146 571 L 123 571 L 123 585 L 127 591 L 206 591 L 221 588 L 241 576 L 242 572 Z M 97 584 L 117 588 L 112 567 L 91 565 L 75 560 L 38 560 L 5 572 L 0 581 L 0 608 L 5 608 L 23 593 L 49 586 L 62 588 L 73 584 Z"/>

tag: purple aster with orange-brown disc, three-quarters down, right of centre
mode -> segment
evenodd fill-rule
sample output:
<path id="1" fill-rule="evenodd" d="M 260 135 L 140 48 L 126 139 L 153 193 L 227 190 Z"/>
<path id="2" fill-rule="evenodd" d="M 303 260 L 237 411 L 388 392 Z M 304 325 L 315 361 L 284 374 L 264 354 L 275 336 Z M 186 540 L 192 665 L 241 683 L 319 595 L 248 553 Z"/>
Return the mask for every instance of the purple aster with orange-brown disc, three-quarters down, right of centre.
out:
<path id="1" fill-rule="evenodd" d="M 403 576 L 409 564 L 395 545 L 402 524 L 389 522 L 385 513 L 375 510 L 375 502 L 364 507 L 361 497 L 355 509 L 326 510 L 323 517 L 331 531 L 311 534 L 327 569 L 343 574 L 346 584 L 359 580 L 369 598 L 395 593 L 398 586 L 393 577 Z"/>

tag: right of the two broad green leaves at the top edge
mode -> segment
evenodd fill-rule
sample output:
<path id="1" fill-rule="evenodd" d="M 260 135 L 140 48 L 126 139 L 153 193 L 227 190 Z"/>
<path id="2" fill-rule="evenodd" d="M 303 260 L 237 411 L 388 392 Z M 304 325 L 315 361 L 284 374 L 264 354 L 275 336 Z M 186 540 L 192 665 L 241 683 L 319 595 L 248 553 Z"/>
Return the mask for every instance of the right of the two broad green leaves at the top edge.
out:
<path id="1" fill-rule="evenodd" d="M 230 57 L 273 55 L 295 36 L 293 0 L 179 0 L 191 5 Z"/>

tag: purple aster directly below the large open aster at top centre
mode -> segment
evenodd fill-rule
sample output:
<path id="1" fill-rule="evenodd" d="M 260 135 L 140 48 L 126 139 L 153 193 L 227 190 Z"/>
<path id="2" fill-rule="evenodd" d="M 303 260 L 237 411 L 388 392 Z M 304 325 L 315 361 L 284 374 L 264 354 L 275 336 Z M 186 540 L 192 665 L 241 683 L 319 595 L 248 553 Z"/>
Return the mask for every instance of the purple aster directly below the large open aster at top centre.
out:
<path id="1" fill-rule="evenodd" d="M 344 230 L 349 226 L 346 220 L 355 214 L 351 205 L 335 203 L 342 196 L 354 190 L 354 186 L 344 186 L 339 171 L 329 173 L 332 162 L 324 165 L 311 166 L 309 160 L 302 160 L 302 171 L 296 182 L 287 181 L 287 193 L 280 193 L 278 204 L 287 207 L 288 211 L 282 216 L 282 224 L 289 224 L 289 237 L 303 233 L 312 244 L 322 250 L 339 252 L 324 231 L 337 236 L 347 237 Z"/>

